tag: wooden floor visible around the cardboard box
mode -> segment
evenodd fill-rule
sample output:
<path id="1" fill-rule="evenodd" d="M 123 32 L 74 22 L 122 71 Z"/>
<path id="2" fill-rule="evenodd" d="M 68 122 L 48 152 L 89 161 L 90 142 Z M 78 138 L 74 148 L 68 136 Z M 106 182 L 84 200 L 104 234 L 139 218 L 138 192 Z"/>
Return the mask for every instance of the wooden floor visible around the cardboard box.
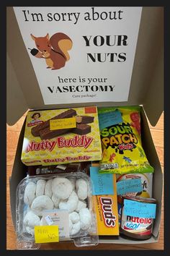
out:
<path id="1" fill-rule="evenodd" d="M 10 198 L 9 198 L 9 177 L 12 174 L 12 166 L 14 164 L 14 155 L 17 149 L 17 142 L 19 139 L 19 133 L 22 128 L 22 124 L 24 122 L 24 118 L 27 115 L 25 113 L 19 121 L 17 121 L 14 126 L 9 126 L 6 124 L 6 135 L 7 135 L 7 154 L 6 154 L 6 249 L 8 250 L 16 250 L 16 234 L 14 231 L 14 226 L 12 223 L 11 216 L 11 208 L 10 208 Z M 161 115 L 156 127 L 152 127 L 149 124 L 151 129 L 151 135 L 153 137 L 153 142 L 156 147 L 156 151 L 158 154 L 159 161 L 161 163 L 162 171 L 164 172 L 164 113 Z M 164 249 L 164 192 L 162 197 L 162 209 L 161 209 L 161 225 L 160 225 L 160 233 L 159 239 L 156 243 L 151 244 L 98 244 L 95 247 L 81 247 L 77 248 L 74 246 L 73 242 L 60 242 L 60 243 L 48 243 L 41 244 L 40 249 L 63 249 L 63 250 L 71 250 L 71 249 L 93 249 L 93 250 L 115 250 L 115 249 L 133 249 L 133 250 L 141 250 L 141 249 L 156 249 L 162 250 Z"/>

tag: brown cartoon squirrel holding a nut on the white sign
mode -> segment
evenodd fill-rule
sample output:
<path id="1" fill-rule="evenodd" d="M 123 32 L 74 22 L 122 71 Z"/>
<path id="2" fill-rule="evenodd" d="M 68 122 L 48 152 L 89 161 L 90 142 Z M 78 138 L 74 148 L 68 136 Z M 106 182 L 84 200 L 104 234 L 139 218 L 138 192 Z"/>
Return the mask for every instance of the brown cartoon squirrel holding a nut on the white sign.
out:
<path id="1" fill-rule="evenodd" d="M 33 40 L 35 40 L 36 48 L 31 50 L 31 54 L 36 58 L 43 58 L 48 65 L 48 69 L 61 69 L 66 64 L 66 61 L 70 59 L 68 51 L 71 50 L 73 42 L 68 35 L 64 33 L 55 33 L 51 37 L 47 33 L 44 37 L 35 37 L 31 34 Z"/>

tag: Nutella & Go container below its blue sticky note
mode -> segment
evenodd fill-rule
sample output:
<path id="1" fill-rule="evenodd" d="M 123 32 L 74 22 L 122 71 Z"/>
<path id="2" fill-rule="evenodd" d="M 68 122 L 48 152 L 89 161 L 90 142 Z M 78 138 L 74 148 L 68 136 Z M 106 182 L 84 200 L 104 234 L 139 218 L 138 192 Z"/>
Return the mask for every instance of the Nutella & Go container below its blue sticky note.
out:
<path id="1" fill-rule="evenodd" d="M 145 197 L 122 197 L 122 213 L 121 213 L 121 223 L 120 223 L 120 234 L 125 236 L 130 236 L 133 239 L 149 239 L 152 236 L 153 231 L 153 220 L 154 218 L 146 218 L 146 216 L 138 217 L 130 216 L 125 214 L 125 200 L 130 200 L 133 202 L 139 202 L 140 204 L 155 204 L 156 200 L 153 198 Z"/>

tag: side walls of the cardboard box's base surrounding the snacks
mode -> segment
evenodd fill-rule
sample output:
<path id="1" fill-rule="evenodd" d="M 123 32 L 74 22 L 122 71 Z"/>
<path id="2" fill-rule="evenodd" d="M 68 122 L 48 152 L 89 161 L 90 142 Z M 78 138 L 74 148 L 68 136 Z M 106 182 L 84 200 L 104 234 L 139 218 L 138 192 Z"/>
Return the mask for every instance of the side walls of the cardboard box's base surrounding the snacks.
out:
<path id="1" fill-rule="evenodd" d="M 10 201 L 11 201 L 11 210 L 12 210 L 12 221 L 14 226 L 16 224 L 16 191 L 17 185 L 21 182 L 22 179 L 27 175 L 27 166 L 25 166 L 22 161 L 20 160 L 20 156 L 22 154 L 22 142 L 24 137 L 24 127 L 25 127 L 26 119 L 24 120 L 24 124 L 22 126 L 22 130 L 19 135 L 18 145 L 17 145 L 17 152 L 14 159 L 14 166 L 12 169 L 12 176 L 10 178 L 9 187 L 10 187 Z M 163 189 L 163 173 L 161 171 L 161 165 L 158 160 L 158 155 L 156 153 L 156 149 L 154 148 L 153 139 L 151 137 L 151 131 L 148 127 L 148 122 L 146 119 L 145 111 L 143 108 L 141 109 L 141 130 L 142 133 L 142 141 L 143 141 L 143 150 L 145 151 L 149 163 L 154 168 L 154 175 L 153 175 L 153 198 L 156 199 L 156 221 L 154 222 L 153 227 L 153 236 L 149 240 L 145 240 L 144 242 L 157 242 L 158 241 L 158 233 L 161 224 L 161 200 L 162 200 L 162 189 Z M 114 240 L 112 239 L 114 237 Z M 107 243 L 122 243 L 128 242 L 128 239 L 115 239 L 115 236 L 109 238 L 109 236 L 105 236 L 101 242 Z M 131 242 L 130 243 L 138 243 L 138 242 Z M 142 242 L 140 242 L 142 243 Z"/>

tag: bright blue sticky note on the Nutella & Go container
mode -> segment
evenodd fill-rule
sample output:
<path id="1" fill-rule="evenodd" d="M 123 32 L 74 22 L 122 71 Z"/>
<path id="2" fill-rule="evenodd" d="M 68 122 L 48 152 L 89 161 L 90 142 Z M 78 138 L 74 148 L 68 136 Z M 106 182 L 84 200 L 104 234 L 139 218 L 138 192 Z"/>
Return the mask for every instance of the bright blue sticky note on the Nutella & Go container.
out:
<path id="1" fill-rule="evenodd" d="M 124 214 L 139 218 L 156 218 L 156 204 L 125 199 Z"/>

